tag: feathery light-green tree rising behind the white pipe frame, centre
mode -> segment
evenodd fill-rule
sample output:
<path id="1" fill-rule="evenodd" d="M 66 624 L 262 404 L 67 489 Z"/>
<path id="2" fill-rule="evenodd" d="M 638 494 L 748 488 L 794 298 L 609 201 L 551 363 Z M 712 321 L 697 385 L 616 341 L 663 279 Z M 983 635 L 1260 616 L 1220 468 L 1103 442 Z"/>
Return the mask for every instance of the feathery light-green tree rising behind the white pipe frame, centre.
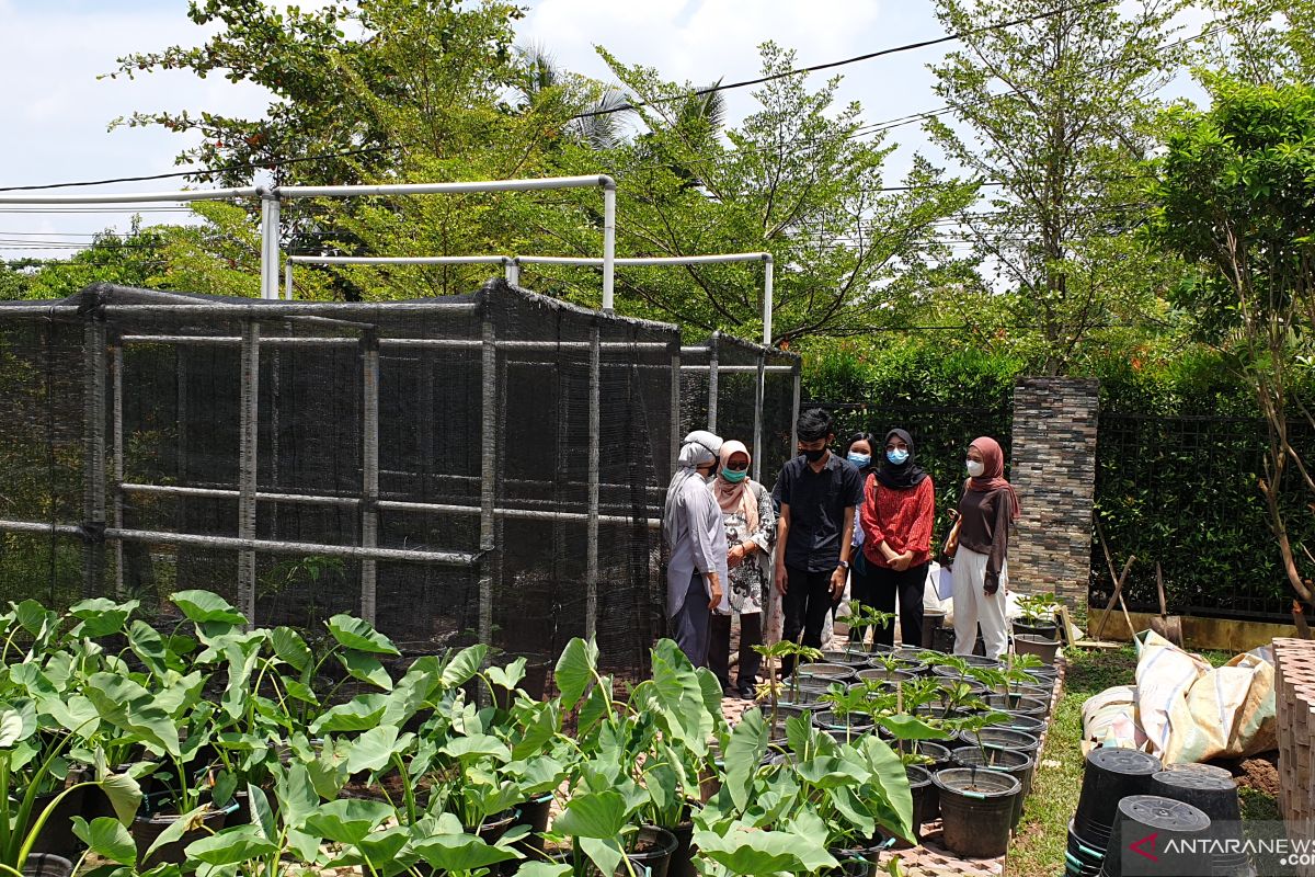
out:
<path id="1" fill-rule="evenodd" d="M 810 91 L 803 76 L 786 75 L 794 54 L 764 43 L 763 72 L 773 79 L 753 92 L 759 109 L 726 128 L 713 96 L 602 54 L 631 99 L 635 134 L 613 150 L 575 146 L 558 156 L 568 172 L 617 178 L 618 254 L 772 252 L 773 342 L 785 344 L 898 325 L 934 285 L 948 251 L 932 233 L 973 187 L 915 159 L 907 191 L 882 191 L 893 147 L 863 130 L 859 104 L 834 107 L 839 79 Z M 558 218 L 527 217 L 527 227 L 556 251 L 600 251 L 594 221 Z M 617 301 L 625 313 L 757 338 L 760 271 L 627 270 Z M 597 304 L 594 272 L 558 271 L 543 283 Z"/>

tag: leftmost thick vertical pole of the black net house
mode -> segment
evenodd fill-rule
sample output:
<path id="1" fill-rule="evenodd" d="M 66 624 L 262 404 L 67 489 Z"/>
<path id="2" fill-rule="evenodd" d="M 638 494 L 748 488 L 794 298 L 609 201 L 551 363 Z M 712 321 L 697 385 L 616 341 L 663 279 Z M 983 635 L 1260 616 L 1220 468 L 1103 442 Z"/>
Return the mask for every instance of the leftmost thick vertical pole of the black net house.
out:
<path id="1" fill-rule="evenodd" d="M 105 577 L 105 322 L 96 314 L 83 331 L 83 596 Z"/>

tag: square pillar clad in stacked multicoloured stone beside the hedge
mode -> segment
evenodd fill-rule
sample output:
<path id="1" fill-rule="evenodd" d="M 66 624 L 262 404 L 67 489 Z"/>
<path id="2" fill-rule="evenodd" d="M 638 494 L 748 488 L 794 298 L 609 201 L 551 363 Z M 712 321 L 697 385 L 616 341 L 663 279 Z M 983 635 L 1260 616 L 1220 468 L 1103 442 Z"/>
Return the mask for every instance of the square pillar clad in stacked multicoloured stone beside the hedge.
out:
<path id="1" fill-rule="evenodd" d="M 1028 377 L 1014 385 L 1010 481 L 1023 506 L 1009 550 L 1010 586 L 1085 610 L 1099 381 Z"/>

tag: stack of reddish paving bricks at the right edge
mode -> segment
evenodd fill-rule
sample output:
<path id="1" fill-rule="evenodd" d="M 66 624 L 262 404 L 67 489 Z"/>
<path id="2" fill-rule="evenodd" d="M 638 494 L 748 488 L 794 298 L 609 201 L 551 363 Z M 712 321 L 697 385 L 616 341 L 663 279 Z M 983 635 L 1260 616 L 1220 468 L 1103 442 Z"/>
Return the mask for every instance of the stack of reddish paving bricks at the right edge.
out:
<path id="1" fill-rule="evenodd" d="M 1315 841 L 1315 640 L 1274 640 L 1274 699 L 1278 706 L 1278 806 L 1293 840 Z M 1315 874 L 1315 866 L 1301 870 Z"/>

